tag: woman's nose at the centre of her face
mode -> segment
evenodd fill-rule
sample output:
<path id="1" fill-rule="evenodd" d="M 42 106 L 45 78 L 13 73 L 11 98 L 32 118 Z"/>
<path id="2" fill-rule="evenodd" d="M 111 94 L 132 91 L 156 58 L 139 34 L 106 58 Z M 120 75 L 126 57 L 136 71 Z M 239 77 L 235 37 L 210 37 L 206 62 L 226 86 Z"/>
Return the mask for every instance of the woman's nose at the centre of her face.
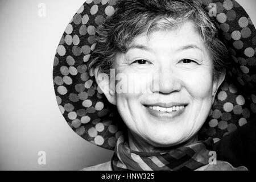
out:
<path id="1" fill-rule="evenodd" d="M 159 67 L 155 74 L 152 92 L 170 94 L 181 90 L 182 81 L 179 78 L 179 74 L 175 72 L 175 68 Z"/>

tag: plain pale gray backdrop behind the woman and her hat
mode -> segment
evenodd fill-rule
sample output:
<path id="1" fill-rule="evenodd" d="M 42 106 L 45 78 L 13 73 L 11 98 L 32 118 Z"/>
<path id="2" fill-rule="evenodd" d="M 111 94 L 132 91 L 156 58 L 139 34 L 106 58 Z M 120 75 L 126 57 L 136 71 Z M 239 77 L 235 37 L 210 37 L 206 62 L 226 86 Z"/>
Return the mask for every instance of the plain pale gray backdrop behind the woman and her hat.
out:
<path id="1" fill-rule="evenodd" d="M 237 0 L 256 24 L 256 1 Z M 38 15 L 45 3 L 46 16 Z M 86 142 L 65 122 L 52 84 L 53 58 L 84 0 L 0 1 L 0 170 L 78 170 L 112 151 Z M 46 165 L 38 152 L 46 152 Z"/>

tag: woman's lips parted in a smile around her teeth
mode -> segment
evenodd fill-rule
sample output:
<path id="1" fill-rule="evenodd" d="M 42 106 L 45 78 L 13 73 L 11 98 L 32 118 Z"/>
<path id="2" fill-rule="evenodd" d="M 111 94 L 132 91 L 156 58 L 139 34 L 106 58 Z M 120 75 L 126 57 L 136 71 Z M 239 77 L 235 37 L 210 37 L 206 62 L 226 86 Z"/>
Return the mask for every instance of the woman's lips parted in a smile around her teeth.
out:
<path id="1" fill-rule="evenodd" d="M 150 109 L 150 107 L 148 107 L 148 106 L 160 106 L 160 105 L 143 105 L 143 106 L 147 110 L 148 114 L 152 115 L 156 119 L 160 119 L 160 120 L 164 120 L 164 121 L 170 121 L 174 118 L 179 117 L 187 109 L 187 104 L 184 104 L 184 109 L 176 110 L 176 111 L 172 111 L 172 112 L 168 113 L 168 112 L 153 110 L 153 109 Z M 172 106 L 182 106 L 182 105 L 176 104 L 176 105 L 172 105 Z M 163 107 L 163 105 L 160 107 Z M 166 105 L 164 107 L 166 107 Z"/>

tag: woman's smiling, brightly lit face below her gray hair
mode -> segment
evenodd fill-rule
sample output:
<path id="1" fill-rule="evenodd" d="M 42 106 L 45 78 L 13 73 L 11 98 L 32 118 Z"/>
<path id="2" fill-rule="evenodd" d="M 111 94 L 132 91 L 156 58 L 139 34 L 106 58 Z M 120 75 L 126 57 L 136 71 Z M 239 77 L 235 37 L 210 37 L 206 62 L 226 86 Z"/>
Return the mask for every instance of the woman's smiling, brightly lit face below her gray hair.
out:
<path id="1" fill-rule="evenodd" d="M 155 147 L 195 136 L 224 78 L 213 78 L 212 60 L 192 22 L 138 36 L 126 53 L 115 56 L 114 68 L 129 78 L 127 90 L 135 86 L 141 92 L 105 92 L 106 97 L 130 133 Z"/>

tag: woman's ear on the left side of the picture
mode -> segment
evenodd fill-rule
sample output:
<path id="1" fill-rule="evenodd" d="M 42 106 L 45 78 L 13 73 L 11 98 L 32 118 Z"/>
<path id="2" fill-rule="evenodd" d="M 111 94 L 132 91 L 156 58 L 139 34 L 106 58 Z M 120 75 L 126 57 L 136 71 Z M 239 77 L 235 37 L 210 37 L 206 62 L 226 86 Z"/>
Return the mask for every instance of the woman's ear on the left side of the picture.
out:
<path id="1" fill-rule="evenodd" d="M 93 73 L 98 86 L 100 87 L 108 101 L 111 104 L 116 105 L 114 92 L 115 89 L 113 88 L 112 84 L 110 84 L 111 78 L 106 73 L 101 72 L 99 67 L 94 68 Z"/>

